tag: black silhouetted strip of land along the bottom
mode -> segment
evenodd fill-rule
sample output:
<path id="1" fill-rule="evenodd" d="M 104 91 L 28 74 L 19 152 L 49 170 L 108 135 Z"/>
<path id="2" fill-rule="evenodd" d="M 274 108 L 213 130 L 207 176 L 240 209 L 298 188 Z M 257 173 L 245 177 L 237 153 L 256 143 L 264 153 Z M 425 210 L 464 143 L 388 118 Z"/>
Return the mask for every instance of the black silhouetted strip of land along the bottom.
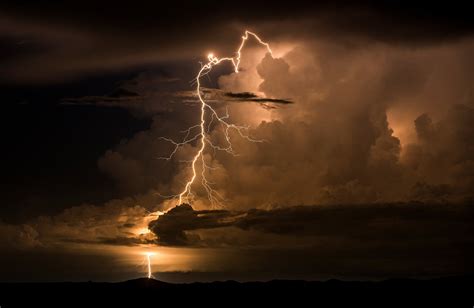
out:
<path id="1" fill-rule="evenodd" d="M 163 303 L 193 306 L 283 304 L 300 306 L 474 307 L 474 276 L 432 280 L 391 279 L 379 282 L 274 280 L 171 284 L 140 278 L 119 283 L 0 283 L 0 306 L 92 307 L 120 304 L 138 307 Z"/>

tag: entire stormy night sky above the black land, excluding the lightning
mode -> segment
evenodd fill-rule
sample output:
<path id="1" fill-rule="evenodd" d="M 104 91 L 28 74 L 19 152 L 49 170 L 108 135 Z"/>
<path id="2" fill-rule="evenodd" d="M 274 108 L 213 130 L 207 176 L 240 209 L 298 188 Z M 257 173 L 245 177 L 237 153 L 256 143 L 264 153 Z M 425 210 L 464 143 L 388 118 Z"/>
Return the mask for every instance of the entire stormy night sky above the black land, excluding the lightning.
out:
<path id="1" fill-rule="evenodd" d="M 170 282 L 472 273 L 469 12 L 1 4 L 0 281 L 144 277 L 147 253 Z M 245 30 L 272 53 L 250 36 L 238 72 L 199 79 L 236 126 L 207 109 L 179 204 L 200 148 L 195 78 L 210 53 L 236 57 Z"/>

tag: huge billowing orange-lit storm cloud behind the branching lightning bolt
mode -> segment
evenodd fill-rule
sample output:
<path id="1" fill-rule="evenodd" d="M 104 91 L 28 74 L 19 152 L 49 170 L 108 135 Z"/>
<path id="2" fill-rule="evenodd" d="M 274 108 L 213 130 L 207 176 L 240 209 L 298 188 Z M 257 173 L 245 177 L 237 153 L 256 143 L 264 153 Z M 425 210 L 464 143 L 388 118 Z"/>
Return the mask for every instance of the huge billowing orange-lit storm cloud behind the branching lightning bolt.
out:
<path id="1" fill-rule="evenodd" d="M 244 58 L 243 72 L 221 75 L 221 89 L 204 88 L 203 95 L 265 142 L 234 136 L 237 157 L 206 152 L 213 167 L 209 178 L 231 210 L 469 200 L 473 50 L 470 40 L 415 50 L 380 44 L 347 49 L 322 41 L 296 45 L 281 58 Z M 257 94 L 243 88 L 263 93 L 263 99 L 289 97 L 294 104 L 252 104 Z M 172 147 L 160 137 L 180 140 L 196 123 L 199 106 L 193 93 L 166 100 L 155 92 L 144 104 L 155 106 L 148 109 L 150 130 L 108 151 L 99 166 L 122 190 L 172 195 L 182 189 L 189 173 L 185 161 L 197 148 L 191 143 L 162 161 L 157 158 Z M 221 140 L 212 128 L 211 138 Z M 194 189 L 203 208 L 205 191 L 197 184 Z"/>

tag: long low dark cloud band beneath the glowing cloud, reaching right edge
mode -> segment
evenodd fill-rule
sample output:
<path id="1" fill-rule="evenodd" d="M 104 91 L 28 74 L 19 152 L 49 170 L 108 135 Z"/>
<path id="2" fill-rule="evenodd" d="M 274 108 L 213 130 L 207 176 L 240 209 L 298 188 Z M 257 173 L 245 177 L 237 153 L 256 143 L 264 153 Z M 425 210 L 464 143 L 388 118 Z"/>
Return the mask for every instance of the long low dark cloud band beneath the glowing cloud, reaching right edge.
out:
<path id="1" fill-rule="evenodd" d="M 424 241 L 474 243 L 473 222 L 470 203 L 295 206 L 247 212 L 195 211 L 181 205 L 152 221 L 149 228 L 161 245 L 205 245 L 205 238 L 189 231 L 235 227 L 300 239 L 303 236 L 308 245 L 317 242 L 315 237 L 332 237 L 343 238 L 348 244 L 387 241 L 408 246 Z"/>

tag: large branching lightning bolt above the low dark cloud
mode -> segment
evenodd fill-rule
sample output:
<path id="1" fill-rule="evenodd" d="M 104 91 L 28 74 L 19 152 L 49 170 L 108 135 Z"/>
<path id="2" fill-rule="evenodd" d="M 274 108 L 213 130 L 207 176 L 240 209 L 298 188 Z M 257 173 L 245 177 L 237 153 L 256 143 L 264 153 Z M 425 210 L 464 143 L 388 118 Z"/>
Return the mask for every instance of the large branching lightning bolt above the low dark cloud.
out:
<path id="1" fill-rule="evenodd" d="M 197 178 L 197 164 L 198 162 L 201 162 L 201 184 L 204 187 L 204 189 L 207 192 L 208 199 L 211 203 L 211 205 L 214 207 L 216 205 L 221 206 L 222 201 L 224 200 L 223 196 L 217 192 L 216 190 L 213 189 L 212 187 L 212 182 L 210 182 L 206 178 L 206 171 L 207 170 L 212 170 L 213 168 L 209 165 L 207 165 L 205 158 L 204 158 L 204 152 L 206 150 L 206 146 L 211 147 L 213 150 L 217 151 L 224 151 L 227 152 L 231 155 L 236 156 L 237 154 L 235 153 L 233 147 L 232 147 L 232 142 L 231 142 L 231 137 L 230 133 L 231 131 L 235 131 L 240 137 L 250 141 L 250 142 L 262 142 L 263 140 L 257 140 L 253 139 L 249 135 L 249 126 L 242 126 L 242 125 L 236 125 L 233 123 L 229 122 L 229 113 L 228 110 L 226 109 L 226 112 L 224 115 L 219 115 L 214 108 L 212 108 L 211 105 L 206 103 L 204 98 L 202 97 L 201 93 L 201 78 L 205 75 L 207 75 L 214 66 L 219 65 L 223 62 L 230 62 L 233 67 L 235 73 L 239 72 L 239 67 L 240 67 L 240 61 L 242 57 L 242 49 L 245 46 L 245 43 L 248 41 L 250 37 L 254 37 L 257 42 L 261 45 L 263 45 L 268 53 L 273 57 L 273 52 L 270 48 L 270 45 L 266 42 L 264 42 L 260 37 L 255 34 L 254 32 L 251 31 L 245 31 L 244 35 L 242 36 L 241 43 L 239 45 L 239 48 L 237 49 L 235 57 L 225 57 L 225 58 L 218 58 L 216 57 L 213 53 L 210 53 L 207 56 L 208 62 L 206 64 L 203 64 L 201 66 L 201 69 L 199 70 L 196 78 L 194 79 L 196 82 L 196 96 L 199 99 L 199 102 L 201 104 L 201 114 L 200 114 L 200 123 L 194 126 L 189 127 L 187 130 L 184 131 L 185 136 L 182 141 L 177 142 L 174 141 L 170 138 L 165 138 L 161 137 L 162 140 L 165 140 L 169 143 L 171 143 L 174 146 L 174 149 L 171 151 L 170 155 L 167 157 L 160 157 L 161 159 L 165 160 L 170 160 L 178 151 L 178 149 L 186 144 L 190 144 L 192 142 L 198 141 L 199 149 L 189 162 L 191 163 L 191 169 L 192 169 L 192 176 L 189 178 L 189 180 L 186 182 L 186 185 L 184 186 L 183 190 L 173 196 L 169 196 L 171 198 L 176 198 L 178 201 L 178 205 L 182 204 L 184 201 L 187 203 L 191 203 L 193 199 L 193 193 L 192 193 L 192 185 L 194 181 Z M 206 120 L 207 118 L 209 118 Z M 209 137 L 209 131 L 210 127 L 213 124 L 213 122 L 216 121 L 218 125 L 222 127 L 222 131 L 224 133 L 224 139 L 225 139 L 225 144 L 224 145 L 219 145 L 213 143 L 211 138 Z"/>

